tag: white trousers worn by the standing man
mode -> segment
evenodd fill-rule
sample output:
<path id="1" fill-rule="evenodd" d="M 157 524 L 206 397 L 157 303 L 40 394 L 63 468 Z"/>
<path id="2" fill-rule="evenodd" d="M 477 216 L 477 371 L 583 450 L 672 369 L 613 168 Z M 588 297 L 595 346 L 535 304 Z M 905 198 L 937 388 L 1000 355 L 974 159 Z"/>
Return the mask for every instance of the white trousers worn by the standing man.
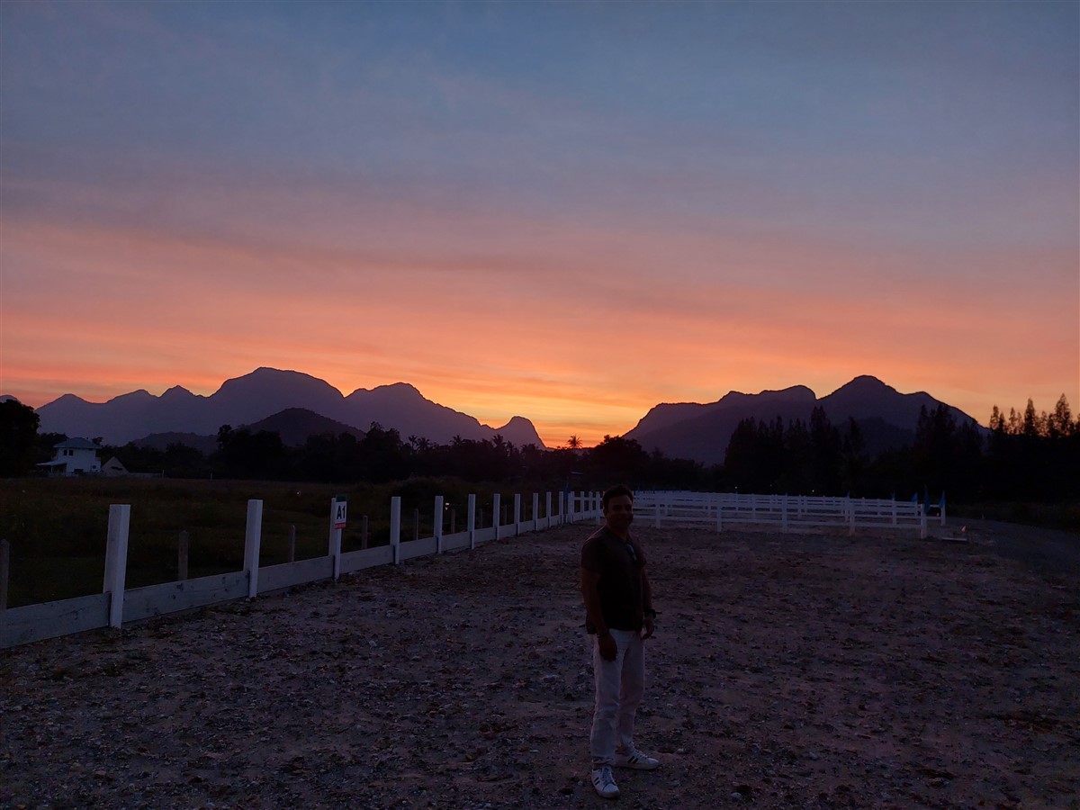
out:
<path id="1" fill-rule="evenodd" d="M 599 644 L 592 636 L 593 680 L 596 705 L 589 745 L 593 766 L 612 765 L 616 747 L 634 748 L 634 716 L 645 694 L 645 645 L 640 633 L 612 630 L 618 652 L 615 661 L 600 658 Z"/>

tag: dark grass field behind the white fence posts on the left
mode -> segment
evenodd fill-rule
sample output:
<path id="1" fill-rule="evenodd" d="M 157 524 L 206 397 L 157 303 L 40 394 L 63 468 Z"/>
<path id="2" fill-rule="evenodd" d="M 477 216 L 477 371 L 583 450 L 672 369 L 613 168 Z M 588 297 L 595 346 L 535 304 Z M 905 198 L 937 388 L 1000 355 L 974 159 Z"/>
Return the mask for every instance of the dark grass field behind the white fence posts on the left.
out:
<path id="1" fill-rule="evenodd" d="M 131 504 L 126 584 L 129 588 L 177 579 L 180 532 L 189 537 L 189 577 L 243 567 L 247 501 L 262 501 L 261 565 L 287 559 L 296 528 L 296 558 L 326 554 L 330 500 L 349 499 L 343 551 L 390 541 L 390 499 L 402 498 L 402 539 L 433 532 L 434 497 L 446 499 L 458 530 L 464 528 L 467 500 L 477 496 L 483 525 L 491 525 L 490 487 L 418 478 L 392 485 L 288 484 L 279 482 L 171 481 L 164 478 L 26 478 L 0 482 L 0 539 L 11 544 L 8 606 L 18 607 L 99 593 L 105 571 L 109 505 Z M 504 502 L 512 496 L 504 494 Z M 523 498 L 525 511 L 531 498 Z M 419 526 L 415 514 L 419 512 Z"/>

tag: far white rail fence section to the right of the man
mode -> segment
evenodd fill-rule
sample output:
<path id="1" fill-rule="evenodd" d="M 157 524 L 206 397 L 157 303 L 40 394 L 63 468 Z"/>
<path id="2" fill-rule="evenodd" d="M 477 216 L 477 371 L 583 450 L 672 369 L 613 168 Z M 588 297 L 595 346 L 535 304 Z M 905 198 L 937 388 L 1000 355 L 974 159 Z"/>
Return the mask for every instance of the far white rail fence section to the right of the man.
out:
<path id="1" fill-rule="evenodd" d="M 944 499 L 941 524 L 945 525 Z M 738 525 L 775 526 L 781 531 L 805 528 L 913 529 L 927 536 L 927 512 L 915 501 L 870 498 L 821 498 L 738 492 L 637 492 L 634 512 L 638 522 L 653 526 L 704 525 L 717 531 Z"/>

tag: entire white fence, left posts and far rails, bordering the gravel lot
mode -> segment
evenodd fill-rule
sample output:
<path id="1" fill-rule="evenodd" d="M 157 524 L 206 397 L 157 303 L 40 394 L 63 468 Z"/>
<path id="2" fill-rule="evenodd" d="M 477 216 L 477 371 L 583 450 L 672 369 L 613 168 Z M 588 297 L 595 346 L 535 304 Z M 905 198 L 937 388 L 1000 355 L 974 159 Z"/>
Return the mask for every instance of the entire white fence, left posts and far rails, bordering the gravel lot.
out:
<path id="1" fill-rule="evenodd" d="M 337 580 L 378 565 L 401 565 L 406 559 L 442 554 L 526 531 L 542 531 L 579 521 L 599 522 L 603 517 L 599 492 L 559 492 L 557 509 L 553 496 L 545 494 L 544 516 L 540 516 L 540 494 L 532 495 L 530 519 L 522 519 L 522 496 L 513 500 L 513 521 L 501 523 L 501 499 L 494 496 L 494 525 L 476 527 L 476 496 L 469 496 L 464 531 L 443 534 L 445 502 L 434 500 L 434 535 L 414 540 L 401 539 L 401 498 L 390 501 L 390 543 L 360 551 L 341 551 L 341 529 L 330 524 L 326 556 L 279 565 L 259 566 L 262 539 L 262 501 L 247 502 L 244 532 L 244 567 L 231 573 L 185 579 L 144 588 L 125 589 L 130 504 L 109 508 L 108 541 L 105 553 L 103 592 L 90 596 L 6 608 L 6 542 L 0 553 L 0 648 L 15 647 L 44 638 L 80 633 L 98 627 L 120 627 L 124 623 L 154 616 L 204 607 L 242 597 L 321 580 Z M 330 515 L 337 501 L 332 501 Z M 783 531 L 810 527 L 834 527 L 854 534 L 858 528 L 914 528 L 927 536 L 927 515 L 914 502 L 850 498 L 804 498 L 788 496 L 738 495 L 714 492 L 635 494 L 634 509 L 639 523 L 664 525 L 702 525 L 723 531 L 745 525 L 777 526 Z M 945 524 L 944 503 L 941 507 Z"/>

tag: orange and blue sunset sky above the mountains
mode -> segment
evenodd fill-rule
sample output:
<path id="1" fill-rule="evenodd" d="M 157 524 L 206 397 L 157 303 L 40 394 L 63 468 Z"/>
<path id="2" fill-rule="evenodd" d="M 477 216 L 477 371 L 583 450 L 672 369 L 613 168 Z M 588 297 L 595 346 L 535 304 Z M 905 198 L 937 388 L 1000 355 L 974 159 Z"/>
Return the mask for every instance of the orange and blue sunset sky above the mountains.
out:
<path id="1" fill-rule="evenodd" d="M 0 393 L 1076 414 L 1078 10 L 4 0 Z"/>

